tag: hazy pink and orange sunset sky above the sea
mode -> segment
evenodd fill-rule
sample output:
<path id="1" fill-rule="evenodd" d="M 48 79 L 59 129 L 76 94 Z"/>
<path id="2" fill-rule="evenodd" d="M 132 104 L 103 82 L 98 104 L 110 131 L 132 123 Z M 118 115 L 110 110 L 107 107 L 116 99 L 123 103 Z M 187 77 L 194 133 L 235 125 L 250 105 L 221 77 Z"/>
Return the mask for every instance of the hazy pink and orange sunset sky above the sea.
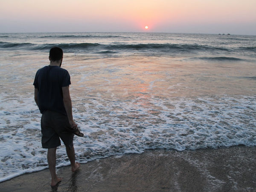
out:
<path id="1" fill-rule="evenodd" d="M 256 0 L 0 0 L 0 32 L 256 35 L 255 10 Z"/>

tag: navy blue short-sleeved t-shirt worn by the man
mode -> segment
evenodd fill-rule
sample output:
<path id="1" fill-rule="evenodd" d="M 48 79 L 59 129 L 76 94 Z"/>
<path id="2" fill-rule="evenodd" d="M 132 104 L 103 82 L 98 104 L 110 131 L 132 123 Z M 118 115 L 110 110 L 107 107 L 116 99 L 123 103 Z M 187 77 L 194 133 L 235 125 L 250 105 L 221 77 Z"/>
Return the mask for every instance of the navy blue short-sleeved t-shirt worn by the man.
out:
<path id="1" fill-rule="evenodd" d="M 38 107 L 41 113 L 46 110 L 67 114 L 62 87 L 69 86 L 70 75 L 67 70 L 58 66 L 45 66 L 35 75 L 33 85 L 38 89 Z"/>

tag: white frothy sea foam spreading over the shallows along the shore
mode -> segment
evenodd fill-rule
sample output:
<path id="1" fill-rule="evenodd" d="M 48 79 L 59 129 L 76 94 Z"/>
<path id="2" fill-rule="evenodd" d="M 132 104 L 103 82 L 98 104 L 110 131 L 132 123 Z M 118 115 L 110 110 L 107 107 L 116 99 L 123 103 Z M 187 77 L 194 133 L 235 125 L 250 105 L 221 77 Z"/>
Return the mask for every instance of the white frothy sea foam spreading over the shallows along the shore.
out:
<path id="1" fill-rule="evenodd" d="M 74 108 L 74 118 L 85 134 L 74 141 L 80 163 L 145 149 L 256 146 L 254 97 L 86 99 L 90 104 L 84 105 L 85 111 Z M 47 168 L 46 150 L 41 148 L 41 115 L 34 104 L 25 102 L 34 110 L 20 111 L 16 106 L 15 111 L 0 113 L 1 181 Z M 57 154 L 58 166 L 70 164 L 64 146 Z"/>

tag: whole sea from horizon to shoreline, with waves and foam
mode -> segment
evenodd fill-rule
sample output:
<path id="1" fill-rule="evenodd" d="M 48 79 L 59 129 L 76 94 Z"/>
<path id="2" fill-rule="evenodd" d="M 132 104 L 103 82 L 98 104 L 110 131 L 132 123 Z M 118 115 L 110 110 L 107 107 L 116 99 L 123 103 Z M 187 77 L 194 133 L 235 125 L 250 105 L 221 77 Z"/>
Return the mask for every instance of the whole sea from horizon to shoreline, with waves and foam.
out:
<path id="1" fill-rule="evenodd" d="M 64 50 L 77 161 L 145 149 L 256 146 L 256 36 L 0 34 L 0 181 L 47 168 L 32 85 Z M 62 143 L 57 167 L 69 165 Z"/>

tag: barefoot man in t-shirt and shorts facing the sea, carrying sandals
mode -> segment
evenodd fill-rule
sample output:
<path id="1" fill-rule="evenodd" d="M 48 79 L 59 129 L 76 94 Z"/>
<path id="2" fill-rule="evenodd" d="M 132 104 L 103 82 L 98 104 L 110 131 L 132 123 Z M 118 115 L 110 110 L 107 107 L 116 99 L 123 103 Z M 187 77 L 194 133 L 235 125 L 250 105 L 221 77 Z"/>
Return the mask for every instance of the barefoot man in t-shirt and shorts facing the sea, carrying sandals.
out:
<path id="1" fill-rule="evenodd" d="M 75 162 L 73 146 L 74 134 L 83 137 L 73 120 L 72 103 L 69 93 L 70 75 L 61 68 L 63 51 L 53 47 L 49 52 L 50 64 L 39 69 L 35 75 L 35 102 L 41 118 L 42 147 L 47 148 L 47 160 L 52 176 L 51 186 L 61 182 L 55 172 L 56 149 L 61 140 L 66 146 L 67 156 L 71 163 L 71 171 L 75 172 L 80 163 Z"/>

